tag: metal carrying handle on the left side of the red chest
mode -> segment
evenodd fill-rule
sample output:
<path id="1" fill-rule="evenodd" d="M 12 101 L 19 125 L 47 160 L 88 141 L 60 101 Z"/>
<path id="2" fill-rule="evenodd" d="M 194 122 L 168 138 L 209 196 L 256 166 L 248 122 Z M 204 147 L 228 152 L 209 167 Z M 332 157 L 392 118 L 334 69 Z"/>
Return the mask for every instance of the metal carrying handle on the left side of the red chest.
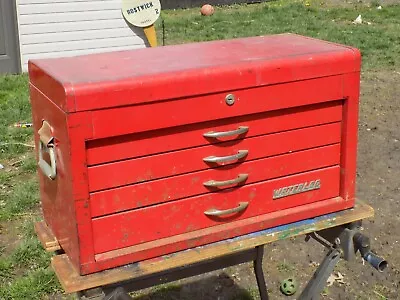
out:
<path id="1" fill-rule="evenodd" d="M 51 133 L 50 124 L 43 122 L 38 131 L 39 134 L 39 168 L 47 178 L 54 180 L 57 176 L 56 152 L 54 137 Z M 43 159 L 43 152 L 48 152 L 50 156 L 50 165 Z"/>

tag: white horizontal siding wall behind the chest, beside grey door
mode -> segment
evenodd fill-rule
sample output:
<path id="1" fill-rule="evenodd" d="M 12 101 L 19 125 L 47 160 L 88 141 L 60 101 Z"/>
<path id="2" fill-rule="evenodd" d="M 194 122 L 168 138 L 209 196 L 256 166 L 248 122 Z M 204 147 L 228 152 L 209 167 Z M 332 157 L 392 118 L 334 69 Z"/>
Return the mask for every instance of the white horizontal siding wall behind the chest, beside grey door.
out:
<path id="1" fill-rule="evenodd" d="M 23 71 L 28 60 L 145 47 L 121 0 L 17 0 Z"/>

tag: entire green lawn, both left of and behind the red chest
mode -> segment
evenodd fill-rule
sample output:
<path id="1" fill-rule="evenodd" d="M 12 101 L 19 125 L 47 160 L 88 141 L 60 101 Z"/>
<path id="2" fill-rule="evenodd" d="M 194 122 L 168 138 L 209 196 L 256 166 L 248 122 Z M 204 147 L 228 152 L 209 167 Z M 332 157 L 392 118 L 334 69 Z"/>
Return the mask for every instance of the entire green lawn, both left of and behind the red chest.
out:
<path id="1" fill-rule="evenodd" d="M 376 1 L 375 1 L 376 2 Z M 320 1 L 275 1 L 163 12 L 166 44 L 294 32 L 358 47 L 363 71 L 399 70 L 400 5 L 335 7 Z M 309 4 L 309 5 L 308 5 Z M 356 8 L 356 9 L 355 9 Z M 352 24 L 358 14 L 369 23 Z M 158 21 L 161 40 L 161 21 Z M 40 219 L 26 75 L 0 77 L 0 299 L 44 299 L 61 292 L 33 232 Z M 248 296 L 242 299 L 249 299 Z"/>

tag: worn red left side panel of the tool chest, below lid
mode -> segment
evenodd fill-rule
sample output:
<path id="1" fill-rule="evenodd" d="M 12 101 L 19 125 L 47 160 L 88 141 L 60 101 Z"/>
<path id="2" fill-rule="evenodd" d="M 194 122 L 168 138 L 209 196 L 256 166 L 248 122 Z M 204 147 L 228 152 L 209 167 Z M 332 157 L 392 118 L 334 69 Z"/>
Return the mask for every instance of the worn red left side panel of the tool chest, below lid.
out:
<path id="1" fill-rule="evenodd" d="M 54 138 L 56 176 L 51 180 L 39 168 L 40 198 L 46 223 L 56 236 L 62 249 L 79 269 L 79 240 L 75 202 L 72 192 L 72 165 L 67 115 L 30 85 L 33 124 L 35 128 L 35 150 L 39 152 L 38 130 L 43 121 L 51 127 Z M 44 149 L 43 160 L 50 164 L 49 153 Z M 39 159 L 39 156 L 36 155 Z"/>

